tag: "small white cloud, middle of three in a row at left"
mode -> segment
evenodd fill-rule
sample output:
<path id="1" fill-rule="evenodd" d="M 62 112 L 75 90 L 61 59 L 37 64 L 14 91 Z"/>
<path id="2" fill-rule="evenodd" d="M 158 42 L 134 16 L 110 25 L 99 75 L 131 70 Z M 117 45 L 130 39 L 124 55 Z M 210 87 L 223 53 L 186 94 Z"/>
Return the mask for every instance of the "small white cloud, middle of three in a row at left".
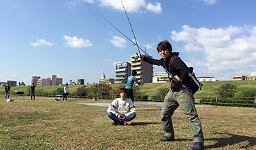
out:
<path id="1" fill-rule="evenodd" d="M 70 37 L 64 35 L 64 39 L 66 40 L 66 45 L 71 48 L 83 48 L 93 46 L 93 44 L 88 39 L 78 39 L 76 36 Z"/>

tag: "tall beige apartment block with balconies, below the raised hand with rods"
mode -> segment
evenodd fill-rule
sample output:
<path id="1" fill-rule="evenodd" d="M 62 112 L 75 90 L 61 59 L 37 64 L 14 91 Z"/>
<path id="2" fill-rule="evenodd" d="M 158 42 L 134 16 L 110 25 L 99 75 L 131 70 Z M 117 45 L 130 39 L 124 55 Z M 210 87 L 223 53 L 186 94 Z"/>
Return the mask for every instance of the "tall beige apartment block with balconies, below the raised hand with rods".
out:
<path id="1" fill-rule="evenodd" d="M 140 58 L 136 59 L 136 56 L 131 57 L 131 71 L 137 71 L 136 79 L 143 82 L 145 77 L 147 80 L 145 83 L 152 83 L 153 65 L 147 62 L 141 61 Z"/>

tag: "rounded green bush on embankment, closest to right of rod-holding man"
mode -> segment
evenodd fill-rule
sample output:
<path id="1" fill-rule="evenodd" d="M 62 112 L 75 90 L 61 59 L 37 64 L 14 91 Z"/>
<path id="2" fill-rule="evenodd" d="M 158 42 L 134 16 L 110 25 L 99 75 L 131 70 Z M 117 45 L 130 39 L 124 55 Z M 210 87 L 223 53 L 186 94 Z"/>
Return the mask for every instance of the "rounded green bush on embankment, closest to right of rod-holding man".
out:
<path id="1" fill-rule="evenodd" d="M 217 95 L 219 95 L 220 97 L 234 97 L 235 96 L 235 90 L 237 89 L 237 86 L 233 85 L 233 84 L 221 84 L 221 86 L 219 86 L 219 88 L 217 88 Z"/>

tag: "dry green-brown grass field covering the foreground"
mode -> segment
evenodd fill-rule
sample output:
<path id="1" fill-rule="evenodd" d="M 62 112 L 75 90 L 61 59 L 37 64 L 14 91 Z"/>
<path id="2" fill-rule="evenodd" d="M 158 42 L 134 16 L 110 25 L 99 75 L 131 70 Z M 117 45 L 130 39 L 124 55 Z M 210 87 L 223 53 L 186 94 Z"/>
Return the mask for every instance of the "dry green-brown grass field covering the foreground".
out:
<path id="1" fill-rule="evenodd" d="M 159 142 L 165 135 L 161 106 L 136 104 L 134 126 L 112 126 L 107 107 L 78 105 L 92 102 L 56 102 L 53 97 L 6 102 L 1 95 L 0 149 L 188 149 L 193 144 L 181 109 L 173 115 L 176 141 Z M 206 149 L 256 149 L 256 109 L 217 106 L 197 111 Z"/>

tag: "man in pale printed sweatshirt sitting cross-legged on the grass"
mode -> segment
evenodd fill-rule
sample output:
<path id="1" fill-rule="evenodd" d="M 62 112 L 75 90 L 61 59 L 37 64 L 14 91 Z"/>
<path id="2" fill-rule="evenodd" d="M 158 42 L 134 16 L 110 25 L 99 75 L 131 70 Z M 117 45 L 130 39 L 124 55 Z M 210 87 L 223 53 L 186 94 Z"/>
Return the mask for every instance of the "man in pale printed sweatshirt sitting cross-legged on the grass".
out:
<path id="1" fill-rule="evenodd" d="M 109 118 L 113 120 L 112 125 L 131 125 L 136 117 L 136 108 L 131 99 L 127 98 L 127 89 L 120 88 L 120 98 L 113 100 L 109 109 L 107 109 Z"/>

